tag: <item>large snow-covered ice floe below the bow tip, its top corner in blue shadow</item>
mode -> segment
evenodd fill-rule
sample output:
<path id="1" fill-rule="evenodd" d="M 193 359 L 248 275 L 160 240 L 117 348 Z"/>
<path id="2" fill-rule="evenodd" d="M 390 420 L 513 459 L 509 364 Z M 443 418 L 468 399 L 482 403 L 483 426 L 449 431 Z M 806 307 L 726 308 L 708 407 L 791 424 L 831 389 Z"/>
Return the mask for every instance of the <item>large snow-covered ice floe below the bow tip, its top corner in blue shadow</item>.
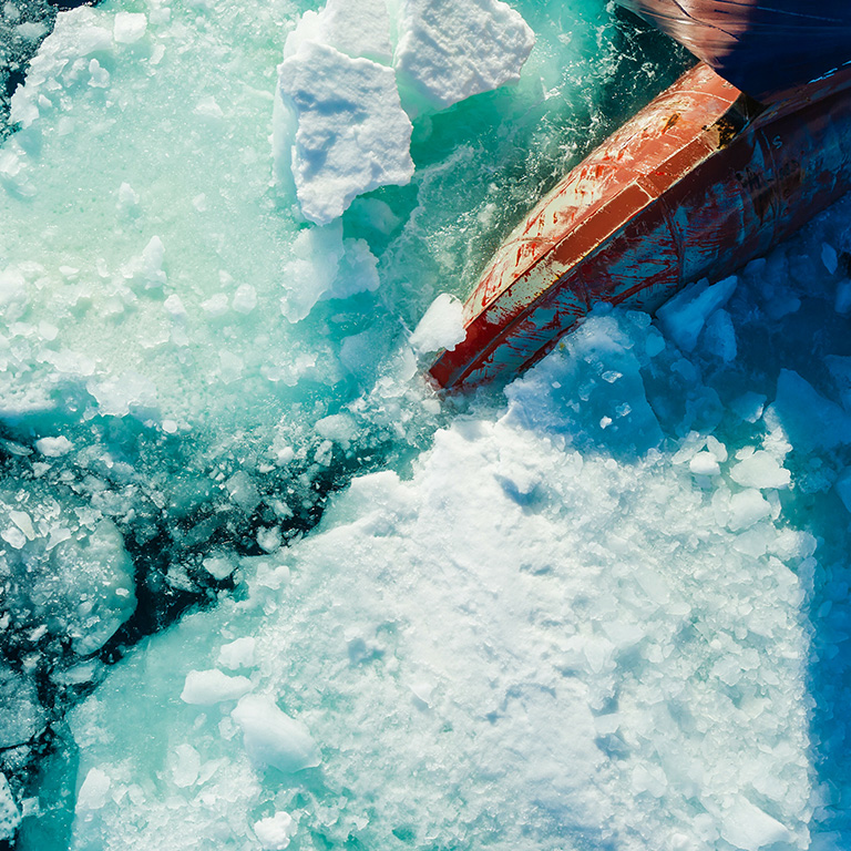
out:
<path id="1" fill-rule="evenodd" d="M 244 560 L 242 598 L 72 714 L 79 777 L 111 782 L 72 848 L 264 848 L 274 819 L 294 848 L 806 848 L 816 542 L 778 501 L 779 426 L 750 488 L 711 434 L 628 449 L 659 433 L 638 369 L 674 353 L 646 317 L 593 319 L 500 419 L 459 418 L 409 481 L 358 478 L 318 533 Z M 187 707 L 201 673 L 215 704 Z M 167 770 L 187 746 L 188 785 Z"/>

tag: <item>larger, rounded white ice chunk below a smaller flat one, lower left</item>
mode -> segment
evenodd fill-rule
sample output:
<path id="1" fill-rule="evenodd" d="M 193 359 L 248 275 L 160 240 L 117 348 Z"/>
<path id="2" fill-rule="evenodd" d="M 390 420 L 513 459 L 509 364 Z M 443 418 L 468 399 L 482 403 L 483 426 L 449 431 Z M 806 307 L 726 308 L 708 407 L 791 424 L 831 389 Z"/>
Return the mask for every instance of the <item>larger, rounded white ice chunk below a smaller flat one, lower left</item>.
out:
<path id="1" fill-rule="evenodd" d="M 281 712 L 270 697 L 247 695 L 230 715 L 243 729 L 243 744 L 255 766 L 295 773 L 321 762 L 307 727 Z"/>

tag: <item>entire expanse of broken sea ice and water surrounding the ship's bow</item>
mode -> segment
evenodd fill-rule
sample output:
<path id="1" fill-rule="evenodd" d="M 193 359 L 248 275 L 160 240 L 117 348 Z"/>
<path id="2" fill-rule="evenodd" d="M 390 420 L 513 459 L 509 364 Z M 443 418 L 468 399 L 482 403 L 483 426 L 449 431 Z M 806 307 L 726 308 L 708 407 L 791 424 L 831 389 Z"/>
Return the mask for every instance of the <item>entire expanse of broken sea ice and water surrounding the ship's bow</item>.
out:
<path id="1" fill-rule="evenodd" d="M 444 397 L 681 50 L 603 0 L 0 16 L 0 848 L 851 848 L 851 198 Z"/>

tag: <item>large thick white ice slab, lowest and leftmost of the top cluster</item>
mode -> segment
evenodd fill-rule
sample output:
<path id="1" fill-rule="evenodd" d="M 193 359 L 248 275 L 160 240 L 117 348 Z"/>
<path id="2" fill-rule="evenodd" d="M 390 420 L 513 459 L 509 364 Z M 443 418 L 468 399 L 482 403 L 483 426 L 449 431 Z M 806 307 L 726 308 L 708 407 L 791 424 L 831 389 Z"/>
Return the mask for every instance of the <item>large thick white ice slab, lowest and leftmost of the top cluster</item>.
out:
<path id="1" fill-rule="evenodd" d="M 328 224 L 358 195 L 411 180 L 412 125 L 392 69 L 305 41 L 278 69 L 278 96 L 293 119 L 278 144 L 291 146 L 296 194 L 308 221 Z M 285 160 L 286 152 L 277 156 Z"/>

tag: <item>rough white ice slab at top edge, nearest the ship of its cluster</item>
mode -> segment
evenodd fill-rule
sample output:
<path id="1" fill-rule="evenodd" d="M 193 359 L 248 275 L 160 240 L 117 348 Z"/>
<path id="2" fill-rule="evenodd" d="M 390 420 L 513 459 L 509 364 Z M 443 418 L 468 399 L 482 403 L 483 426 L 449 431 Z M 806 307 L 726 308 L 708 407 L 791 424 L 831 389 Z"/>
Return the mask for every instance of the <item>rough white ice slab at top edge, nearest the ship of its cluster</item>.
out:
<path id="1" fill-rule="evenodd" d="M 401 0 L 400 85 L 443 109 L 520 79 L 535 35 L 500 0 Z"/>

